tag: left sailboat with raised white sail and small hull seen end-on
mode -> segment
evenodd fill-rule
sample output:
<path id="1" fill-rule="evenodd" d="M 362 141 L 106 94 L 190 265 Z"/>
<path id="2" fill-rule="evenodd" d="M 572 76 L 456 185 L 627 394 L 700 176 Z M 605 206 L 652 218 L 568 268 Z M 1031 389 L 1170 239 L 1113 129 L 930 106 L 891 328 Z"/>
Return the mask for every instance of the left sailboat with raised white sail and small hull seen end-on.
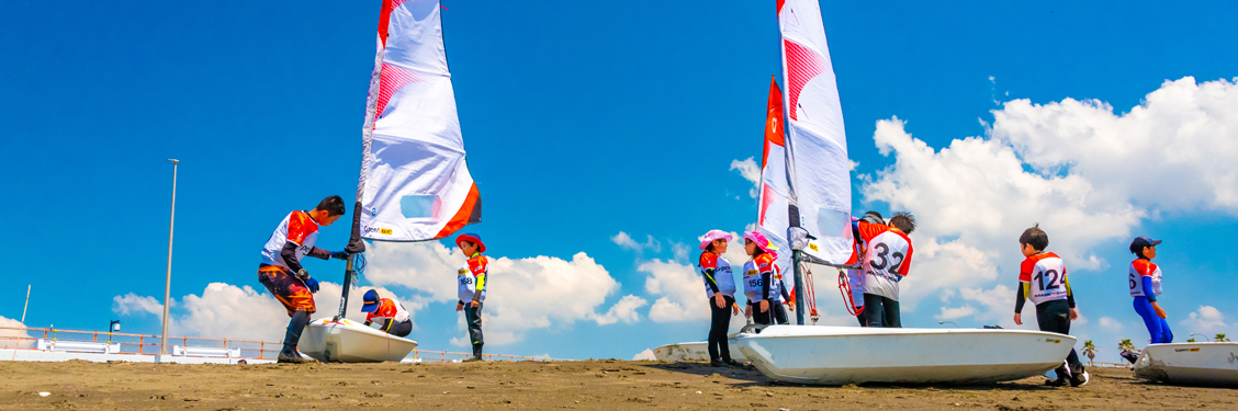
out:
<path id="1" fill-rule="evenodd" d="M 339 313 L 311 322 L 300 342 L 302 353 L 321 361 L 399 361 L 417 347 L 345 318 L 349 291 L 364 267 L 364 240 L 436 240 L 482 220 L 441 10 L 438 0 L 383 1 Z"/>

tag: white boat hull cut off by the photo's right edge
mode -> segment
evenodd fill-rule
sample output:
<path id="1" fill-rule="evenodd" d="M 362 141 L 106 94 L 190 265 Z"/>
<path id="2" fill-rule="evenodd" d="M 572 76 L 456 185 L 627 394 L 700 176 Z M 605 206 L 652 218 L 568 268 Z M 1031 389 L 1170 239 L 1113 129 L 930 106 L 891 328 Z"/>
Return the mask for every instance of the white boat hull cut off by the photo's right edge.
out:
<path id="1" fill-rule="evenodd" d="M 1238 343 L 1151 344 L 1135 361 L 1135 376 L 1170 384 L 1238 387 Z"/>

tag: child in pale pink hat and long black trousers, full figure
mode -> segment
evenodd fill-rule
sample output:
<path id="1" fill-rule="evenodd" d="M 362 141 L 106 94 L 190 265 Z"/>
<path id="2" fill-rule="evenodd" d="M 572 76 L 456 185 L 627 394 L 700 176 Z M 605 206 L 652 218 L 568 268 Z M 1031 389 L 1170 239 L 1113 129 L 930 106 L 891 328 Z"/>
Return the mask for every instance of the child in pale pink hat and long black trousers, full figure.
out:
<path id="1" fill-rule="evenodd" d="M 704 279 L 704 292 L 709 297 L 709 365 L 739 365 L 730 359 L 727 344 L 727 331 L 730 316 L 739 313 L 735 307 L 735 276 L 730 272 L 730 261 L 722 256 L 727 253 L 727 243 L 735 236 L 723 230 L 709 230 L 701 236 L 701 276 Z"/>

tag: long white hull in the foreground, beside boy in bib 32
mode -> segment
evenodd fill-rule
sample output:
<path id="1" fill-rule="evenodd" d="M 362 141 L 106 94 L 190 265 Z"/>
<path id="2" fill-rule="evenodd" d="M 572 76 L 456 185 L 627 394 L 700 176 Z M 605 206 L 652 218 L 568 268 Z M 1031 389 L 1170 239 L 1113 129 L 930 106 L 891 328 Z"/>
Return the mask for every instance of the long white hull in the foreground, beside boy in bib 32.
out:
<path id="1" fill-rule="evenodd" d="M 766 376 L 796 384 L 987 384 L 1057 368 L 1075 337 L 1021 329 L 773 326 L 735 338 Z"/>

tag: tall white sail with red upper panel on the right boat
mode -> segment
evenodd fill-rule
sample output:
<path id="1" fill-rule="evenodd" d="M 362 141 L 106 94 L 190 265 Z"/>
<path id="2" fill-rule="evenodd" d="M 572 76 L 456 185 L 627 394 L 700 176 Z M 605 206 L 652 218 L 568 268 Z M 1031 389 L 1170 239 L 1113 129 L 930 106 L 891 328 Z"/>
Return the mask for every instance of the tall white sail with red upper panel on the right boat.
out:
<path id="1" fill-rule="evenodd" d="M 816 239 L 805 253 L 826 262 L 851 256 L 851 162 L 838 85 L 817 0 L 779 0 L 786 119 L 789 213 Z"/>

